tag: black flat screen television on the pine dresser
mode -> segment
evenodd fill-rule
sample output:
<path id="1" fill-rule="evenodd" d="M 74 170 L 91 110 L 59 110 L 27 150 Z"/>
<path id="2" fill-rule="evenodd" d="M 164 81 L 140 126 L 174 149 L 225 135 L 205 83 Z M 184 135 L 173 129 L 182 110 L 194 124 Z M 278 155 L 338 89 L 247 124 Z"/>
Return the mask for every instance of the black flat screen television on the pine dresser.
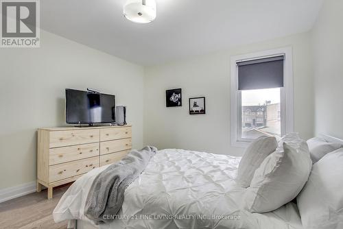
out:
<path id="1" fill-rule="evenodd" d="M 65 98 L 68 124 L 115 122 L 115 95 L 66 88 Z"/>

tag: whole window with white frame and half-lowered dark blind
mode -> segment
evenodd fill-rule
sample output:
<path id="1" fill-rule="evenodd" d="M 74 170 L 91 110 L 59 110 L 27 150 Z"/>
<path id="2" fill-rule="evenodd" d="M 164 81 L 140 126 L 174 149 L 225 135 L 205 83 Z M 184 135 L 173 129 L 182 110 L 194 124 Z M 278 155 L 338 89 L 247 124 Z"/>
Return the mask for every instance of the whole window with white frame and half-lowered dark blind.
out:
<path id="1" fill-rule="evenodd" d="M 293 131 L 292 49 L 231 58 L 231 143 Z"/>

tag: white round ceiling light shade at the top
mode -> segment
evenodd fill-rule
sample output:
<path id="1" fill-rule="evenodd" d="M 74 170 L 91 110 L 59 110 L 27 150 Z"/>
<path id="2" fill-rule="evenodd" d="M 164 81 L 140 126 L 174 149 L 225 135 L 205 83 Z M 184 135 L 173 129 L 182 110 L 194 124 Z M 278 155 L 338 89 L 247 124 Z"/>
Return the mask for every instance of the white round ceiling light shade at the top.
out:
<path id="1" fill-rule="evenodd" d="M 123 13 L 126 19 L 135 23 L 150 23 L 156 19 L 155 0 L 127 0 Z"/>

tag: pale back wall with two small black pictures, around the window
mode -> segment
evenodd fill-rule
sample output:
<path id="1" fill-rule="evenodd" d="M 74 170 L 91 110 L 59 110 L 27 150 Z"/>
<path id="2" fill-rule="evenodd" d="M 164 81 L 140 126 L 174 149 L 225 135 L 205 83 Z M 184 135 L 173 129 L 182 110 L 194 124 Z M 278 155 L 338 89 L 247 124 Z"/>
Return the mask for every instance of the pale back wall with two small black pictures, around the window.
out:
<path id="1" fill-rule="evenodd" d="M 241 155 L 230 146 L 230 56 L 279 47 L 293 48 L 294 126 L 313 135 L 313 85 L 309 33 L 244 45 L 227 51 L 145 68 L 144 143 Z M 165 90 L 182 88 L 182 107 L 165 107 Z M 206 115 L 189 115 L 189 97 L 206 97 Z"/>

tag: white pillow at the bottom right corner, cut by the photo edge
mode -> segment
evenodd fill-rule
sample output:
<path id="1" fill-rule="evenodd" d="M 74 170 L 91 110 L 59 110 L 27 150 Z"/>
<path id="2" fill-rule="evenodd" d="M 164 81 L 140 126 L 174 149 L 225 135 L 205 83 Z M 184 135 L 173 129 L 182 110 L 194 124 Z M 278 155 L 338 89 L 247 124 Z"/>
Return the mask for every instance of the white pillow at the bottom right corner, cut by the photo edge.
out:
<path id="1" fill-rule="evenodd" d="M 313 165 L 309 181 L 297 197 L 304 228 L 343 228 L 343 149 Z"/>

